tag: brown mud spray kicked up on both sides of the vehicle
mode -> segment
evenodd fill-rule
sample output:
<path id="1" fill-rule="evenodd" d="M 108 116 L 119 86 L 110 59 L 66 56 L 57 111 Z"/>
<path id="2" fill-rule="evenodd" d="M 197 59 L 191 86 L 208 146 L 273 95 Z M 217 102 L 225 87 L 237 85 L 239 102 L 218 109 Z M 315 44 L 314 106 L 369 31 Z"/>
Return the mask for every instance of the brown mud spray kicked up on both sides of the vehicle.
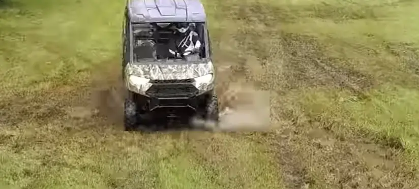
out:
<path id="1" fill-rule="evenodd" d="M 218 124 L 193 118 L 195 128 L 213 131 L 265 131 L 270 129 L 270 95 L 260 91 L 252 83 L 238 80 L 231 75 L 232 69 L 217 71 L 217 88 L 220 103 L 220 121 Z M 100 76 L 103 76 L 102 72 Z M 91 97 L 94 114 L 106 117 L 110 123 L 121 124 L 123 121 L 124 87 L 121 78 L 110 70 L 106 77 L 96 77 L 93 82 Z M 238 77 L 241 78 L 241 77 Z"/>

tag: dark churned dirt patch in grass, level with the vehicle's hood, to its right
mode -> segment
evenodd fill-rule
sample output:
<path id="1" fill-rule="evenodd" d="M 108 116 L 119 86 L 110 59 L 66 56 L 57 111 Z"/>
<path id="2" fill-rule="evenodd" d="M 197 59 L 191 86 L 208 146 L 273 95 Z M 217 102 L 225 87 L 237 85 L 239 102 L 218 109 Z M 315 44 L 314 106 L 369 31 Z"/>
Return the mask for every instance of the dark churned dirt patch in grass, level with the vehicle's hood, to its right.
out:
<path id="1" fill-rule="evenodd" d="M 282 33 L 278 45 L 283 50 L 278 57 L 280 77 L 284 80 L 278 88 L 282 90 L 337 87 L 361 94 L 374 86 L 374 78 L 353 69 L 348 62 L 351 60 L 327 56 L 324 47 L 313 37 Z M 271 68 L 268 71 L 268 75 L 278 74 Z"/>

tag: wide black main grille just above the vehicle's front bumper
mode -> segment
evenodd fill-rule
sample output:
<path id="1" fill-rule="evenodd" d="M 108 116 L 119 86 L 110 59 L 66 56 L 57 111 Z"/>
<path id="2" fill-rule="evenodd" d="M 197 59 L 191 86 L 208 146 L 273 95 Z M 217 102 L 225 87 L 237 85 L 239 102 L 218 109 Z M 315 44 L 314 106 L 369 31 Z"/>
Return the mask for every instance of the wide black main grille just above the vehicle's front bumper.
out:
<path id="1" fill-rule="evenodd" d="M 155 97 L 191 97 L 197 92 L 198 89 L 192 84 L 154 84 L 146 94 Z"/>

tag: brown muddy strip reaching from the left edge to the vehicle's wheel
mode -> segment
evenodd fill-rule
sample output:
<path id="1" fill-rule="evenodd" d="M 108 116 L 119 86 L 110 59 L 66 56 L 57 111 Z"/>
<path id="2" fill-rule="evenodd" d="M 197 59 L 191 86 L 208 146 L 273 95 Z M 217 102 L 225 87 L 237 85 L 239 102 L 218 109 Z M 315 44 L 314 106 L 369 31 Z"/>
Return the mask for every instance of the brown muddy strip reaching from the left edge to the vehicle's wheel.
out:
<path id="1" fill-rule="evenodd" d="M 0 124 L 14 127 L 26 121 L 47 124 L 51 120 L 67 120 L 84 127 L 88 125 L 84 121 L 99 117 L 95 121 L 106 120 L 120 125 L 123 112 L 121 85 L 116 84 L 118 78 L 113 70 L 104 70 L 94 73 L 92 85 L 79 81 L 83 84 L 15 91 L 10 98 L 0 101 Z"/>

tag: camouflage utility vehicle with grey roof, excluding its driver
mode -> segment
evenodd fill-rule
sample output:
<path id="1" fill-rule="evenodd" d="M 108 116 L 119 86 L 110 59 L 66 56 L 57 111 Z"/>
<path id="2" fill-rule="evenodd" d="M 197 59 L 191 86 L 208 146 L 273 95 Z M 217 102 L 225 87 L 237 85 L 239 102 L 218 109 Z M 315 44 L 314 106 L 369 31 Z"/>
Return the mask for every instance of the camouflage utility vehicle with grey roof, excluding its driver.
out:
<path id="1" fill-rule="evenodd" d="M 168 55 L 173 32 L 167 28 L 178 22 L 196 26 L 200 52 L 182 58 Z M 215 71 L 199 0 L 128 0 L 123 30 L 126 131 L 194 116 L 218 121 Z"/>

